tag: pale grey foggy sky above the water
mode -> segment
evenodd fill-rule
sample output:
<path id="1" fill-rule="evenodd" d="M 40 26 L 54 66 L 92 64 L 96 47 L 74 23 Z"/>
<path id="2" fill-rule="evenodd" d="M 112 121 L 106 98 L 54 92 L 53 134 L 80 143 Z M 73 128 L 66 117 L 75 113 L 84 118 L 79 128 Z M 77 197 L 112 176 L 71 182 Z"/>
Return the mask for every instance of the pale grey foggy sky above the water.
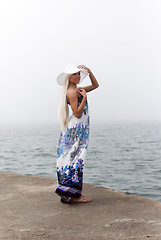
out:
<path id="1" fill-rule="evenodd" d="M 100 83 L 93 122 L 161 121 L 161 1 L 0 1 L 0 124 L 57 121 L 71 63 Z"/>

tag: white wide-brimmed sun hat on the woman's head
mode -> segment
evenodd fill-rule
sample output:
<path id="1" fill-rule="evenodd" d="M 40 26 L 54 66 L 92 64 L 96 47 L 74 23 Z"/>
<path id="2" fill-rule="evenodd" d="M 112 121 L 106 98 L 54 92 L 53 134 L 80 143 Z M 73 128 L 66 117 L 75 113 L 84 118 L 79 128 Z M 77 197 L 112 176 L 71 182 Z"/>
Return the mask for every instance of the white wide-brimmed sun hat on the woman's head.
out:
<path id="1" fill-rule="evenodd" d="M 63 85 L 65 77 L 68 74 L 74 74 L 80 72 L 80 82 L 88 75 L 88 71 L 84 68 L 78 68 L 76 64 L 70 64 L 65 67 L 64 71 L 57 77 L 57 82 L 59 85 Z"/>

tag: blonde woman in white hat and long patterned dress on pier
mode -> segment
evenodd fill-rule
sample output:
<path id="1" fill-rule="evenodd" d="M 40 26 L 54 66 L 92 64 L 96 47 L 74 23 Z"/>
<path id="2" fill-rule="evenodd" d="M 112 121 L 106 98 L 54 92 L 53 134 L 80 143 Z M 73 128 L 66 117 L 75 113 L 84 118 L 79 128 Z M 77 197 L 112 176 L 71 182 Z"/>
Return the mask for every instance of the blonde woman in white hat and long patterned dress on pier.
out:
<path id="1" fill-rule="evenodd" d="M 87 75 L 91 85 L 77 87 Z M 91 202 L 82 195 L 83 168 L 89 139 L 89 112 L 87 92 L 99 84 L 89 68 L 71 64 L 64 69 L 57 82 L 63 85 L 63 95 L 59 108 L 62 132 L 57 147 L 57 176 L 59 186 L 56 193 L 63 203 Z M 70 105 L 72 115 L 69 117 Z"/>

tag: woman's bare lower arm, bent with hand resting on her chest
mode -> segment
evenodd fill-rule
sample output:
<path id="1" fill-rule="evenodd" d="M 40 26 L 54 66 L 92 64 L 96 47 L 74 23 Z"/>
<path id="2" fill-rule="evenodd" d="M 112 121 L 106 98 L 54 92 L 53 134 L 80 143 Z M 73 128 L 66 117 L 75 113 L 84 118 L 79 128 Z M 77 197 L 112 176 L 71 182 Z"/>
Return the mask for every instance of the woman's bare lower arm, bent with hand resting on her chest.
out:
<path id="1" fill-rule="evenodd" d="M 77 91 L 83 96 L 83 99 L 79 106 L 78 106 Z M 75 117 L 79 118 L 81 116 L 84 106 L 86 104 L 87 95 L 86 95 L 86 91 L 84 89 L 80 89 L 77 91 L 76 90 L 68 90 L 67 99 L 70 103 L 73 114 L 75 115 Z"/>

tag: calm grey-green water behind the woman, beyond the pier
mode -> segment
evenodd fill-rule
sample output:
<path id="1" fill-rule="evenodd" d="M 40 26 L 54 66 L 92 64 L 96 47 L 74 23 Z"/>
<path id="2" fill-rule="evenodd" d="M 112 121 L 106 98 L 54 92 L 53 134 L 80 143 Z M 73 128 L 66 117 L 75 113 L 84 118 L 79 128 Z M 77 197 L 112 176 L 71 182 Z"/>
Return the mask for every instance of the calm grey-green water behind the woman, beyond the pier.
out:
<path id="1" fill-rule="evenodd" d="M 59 132 L 0 126 L 0 172 L 56 177 Z M 161 123 L 93 124 L 84 182 L 161 202 Z"/>

